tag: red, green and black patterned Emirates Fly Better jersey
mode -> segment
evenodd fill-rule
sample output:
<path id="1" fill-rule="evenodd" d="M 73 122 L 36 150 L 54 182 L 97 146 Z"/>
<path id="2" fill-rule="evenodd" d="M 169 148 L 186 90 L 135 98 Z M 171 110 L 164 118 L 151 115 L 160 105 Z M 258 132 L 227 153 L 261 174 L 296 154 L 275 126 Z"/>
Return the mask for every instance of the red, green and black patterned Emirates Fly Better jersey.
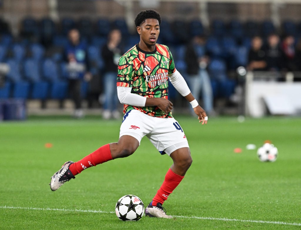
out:
<path id="1" fill-rule="evenodd" d="M 175 72 L 172 54 L 165 45 L 156 44 L 153 52 L 132 47 L 120 59 L 117 86 L 132 87 L 131 93 L 149 98 L 168 98 L 168 74 Z M 125 104 L 123 113 L 136 109 L 153 117 L 172 117 L 157 106 L 136 107 Z"/>

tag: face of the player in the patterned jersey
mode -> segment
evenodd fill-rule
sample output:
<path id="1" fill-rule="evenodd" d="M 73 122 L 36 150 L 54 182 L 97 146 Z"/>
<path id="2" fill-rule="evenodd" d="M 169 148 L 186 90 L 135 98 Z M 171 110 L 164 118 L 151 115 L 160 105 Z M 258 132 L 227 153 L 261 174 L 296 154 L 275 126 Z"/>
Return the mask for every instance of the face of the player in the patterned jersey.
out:
<path id="1" fill-rule="evenodd" d="M 147 48 L 145 51 L 154 50 L 159 33 L 160 26 L 157 19 L 148 18 L 140 26 L 137 26 L 137 32 L 140 35 L 139 46 L 141 49 Z"/>

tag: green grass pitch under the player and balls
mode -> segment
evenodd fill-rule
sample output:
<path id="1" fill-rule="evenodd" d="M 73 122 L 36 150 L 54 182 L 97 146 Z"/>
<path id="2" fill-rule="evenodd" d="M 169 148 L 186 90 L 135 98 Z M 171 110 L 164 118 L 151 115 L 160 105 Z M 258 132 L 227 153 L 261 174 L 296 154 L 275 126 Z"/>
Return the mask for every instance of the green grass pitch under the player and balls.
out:
<path id="1" fill-rule="evenodd" d="M 134 194 L 147 205 L 172 164 L 145 137 L 128 158 L 89 168 L 50 190 L 50 177 L 68 161 L 118 140 L 121 121 L 91 116 L 29 117 L 0 123 L 0 229 L 300 229 L 301 118 L 175 116 L 190 144 L 193 163 L 164 203 L 174 219 L 120 221 L 116 201 Z M 257 159 L 271 140 L 276 162 Z M 45 144 L 51 143 L 51 148 Z M 242 153 L 234 153 L 241 148 Z"/>

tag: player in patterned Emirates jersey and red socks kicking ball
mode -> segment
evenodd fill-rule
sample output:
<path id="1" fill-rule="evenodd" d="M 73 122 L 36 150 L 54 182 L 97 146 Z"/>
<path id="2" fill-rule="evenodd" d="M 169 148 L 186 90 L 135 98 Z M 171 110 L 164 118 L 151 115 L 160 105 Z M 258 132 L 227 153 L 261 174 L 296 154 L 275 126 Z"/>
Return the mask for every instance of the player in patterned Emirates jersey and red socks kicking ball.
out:
<path id="1" fill-rule="evenodd" d="M 135 19 L 140 41 L 119 60 L 117 93 L 119 101 L 124 104 L 124 116 L 118 142 L 106 144 L 78 162 L 66 162 L 51 177 L 52 191 L 86 168 L 130 156 L 140 145 L 142 137 L 147 136 L 162 155 L 171 157 L 173 164 L 145 214 L 172 218 L 166 215 L 162 204 L 184 178 L 192 158 L 184 131 L 172 117 L 172 103 L 167 99 L 168 79 L 191 103 L 202 125 L 207 124 L 208 117 L 175 69 L 168 47 L 156 44 L 160 23 L 156 11 L 141 11 Z"/>

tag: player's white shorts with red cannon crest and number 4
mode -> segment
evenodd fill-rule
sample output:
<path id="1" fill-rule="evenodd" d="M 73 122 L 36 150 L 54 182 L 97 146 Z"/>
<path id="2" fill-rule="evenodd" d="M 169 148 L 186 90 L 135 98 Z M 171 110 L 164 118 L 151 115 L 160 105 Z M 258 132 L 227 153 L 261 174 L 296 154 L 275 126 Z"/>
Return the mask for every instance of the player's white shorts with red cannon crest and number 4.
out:
<path id="1" fill-rule="evenodd" d="M 130 110 L 123 116 L 119 138 L 129 135 L 140 141 L 144 136 L 163 155 L 188 147 L 183 129 L 174 118 L 152 117 L 138 110 Z"/>

